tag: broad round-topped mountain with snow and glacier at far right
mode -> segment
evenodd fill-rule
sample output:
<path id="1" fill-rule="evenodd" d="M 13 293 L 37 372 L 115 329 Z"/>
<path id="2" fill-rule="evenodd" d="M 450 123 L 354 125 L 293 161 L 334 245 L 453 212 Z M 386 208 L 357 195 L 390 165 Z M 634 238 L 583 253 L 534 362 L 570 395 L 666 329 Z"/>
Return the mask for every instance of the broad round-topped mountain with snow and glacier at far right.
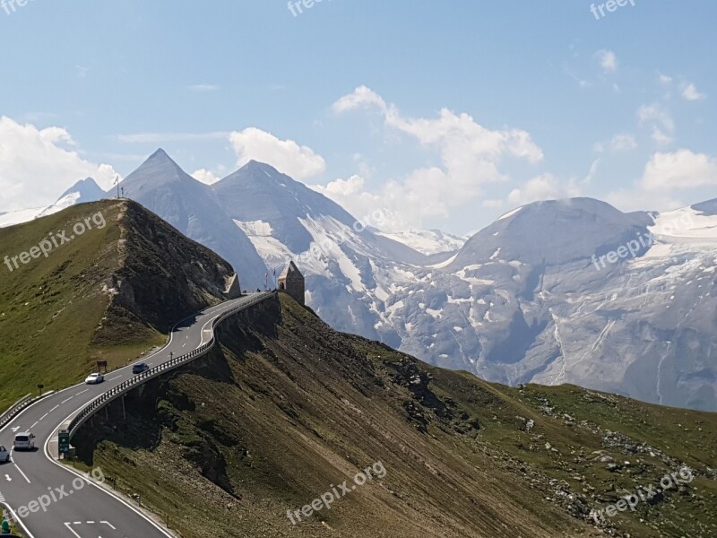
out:
<path id="1" fill-rule="evenodd" d="M 717 216 L 530 204 L 388 299 L 402 349 L 508 384 L 717 409 Z M 594 256 L 594 257 L 593 257 Z"/>

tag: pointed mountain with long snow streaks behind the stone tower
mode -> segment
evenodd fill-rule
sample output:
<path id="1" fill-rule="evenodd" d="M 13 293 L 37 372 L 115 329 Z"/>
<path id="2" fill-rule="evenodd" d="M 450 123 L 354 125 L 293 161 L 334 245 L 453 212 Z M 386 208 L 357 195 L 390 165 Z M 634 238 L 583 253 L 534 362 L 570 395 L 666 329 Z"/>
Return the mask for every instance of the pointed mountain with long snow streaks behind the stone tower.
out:
<path id="1" fill-rule="evenodd" d="M 379 235 L 339 204 L 266 164 L 249 162 L 212 189 L 252 240 L 272 279 L 293 259 L 307 280 L 307 302 L 334 327 L 401 343 L 390 325 L 377 330 L 381 298 L 389 291 L 374 277 L 394 264 L 425 264 L 427 256 Z"/>

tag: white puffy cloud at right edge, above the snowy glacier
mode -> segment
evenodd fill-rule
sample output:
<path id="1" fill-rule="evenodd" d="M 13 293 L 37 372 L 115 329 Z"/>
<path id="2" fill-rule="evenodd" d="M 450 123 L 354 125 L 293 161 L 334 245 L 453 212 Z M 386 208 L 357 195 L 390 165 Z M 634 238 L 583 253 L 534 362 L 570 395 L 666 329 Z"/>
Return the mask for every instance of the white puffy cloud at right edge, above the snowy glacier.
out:
<path id="1" fill-rule="evenodd" d="M 648 192 L 717 186 L 717 160 L 690 150 L 652 155 L 644 169 L 640 187 Z"/>

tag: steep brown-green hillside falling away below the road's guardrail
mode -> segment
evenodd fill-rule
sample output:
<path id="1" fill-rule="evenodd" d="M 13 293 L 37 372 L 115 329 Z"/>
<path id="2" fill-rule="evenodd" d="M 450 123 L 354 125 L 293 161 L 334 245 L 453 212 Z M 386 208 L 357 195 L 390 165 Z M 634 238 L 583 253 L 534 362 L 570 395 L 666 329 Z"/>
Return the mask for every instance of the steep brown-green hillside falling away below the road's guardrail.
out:
<path id="1" fill-rule="evenodd" d="M 285 297 L 281 316 L 225 330 L 211 359 L 136 403 L 128 428 L 86 431 L 87 462 L 192 538 L 600 535 L 591 508 L 686 463 L 694 482 L 610 532 L 717 534 L 717 415 L 488 384 L 335 333 Z M 383 481 L 289 524 L 287 509 L 376 460 Z"/>

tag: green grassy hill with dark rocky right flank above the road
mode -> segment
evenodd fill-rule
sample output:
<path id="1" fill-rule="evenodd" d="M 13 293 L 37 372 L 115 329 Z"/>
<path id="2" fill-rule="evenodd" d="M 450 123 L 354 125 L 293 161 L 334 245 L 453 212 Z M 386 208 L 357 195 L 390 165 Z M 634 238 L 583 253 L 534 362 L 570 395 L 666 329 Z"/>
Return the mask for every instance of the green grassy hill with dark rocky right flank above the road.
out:
<path id="1" fill-rule="evenodd" d="M 79 204 L 0 229 L 0 263 L 50 232 L 66 230 L 69 238 L 76 222 L 98 212 L 107 223 L 101 230 L 93 224 L 12 273 L 0 265 L 0 412 L 39 383 L 52 389 L 80 381 L 95 360 L 124 365 L 164 343 L 169 322 L 218 300 L 203 273 L 220 281 L 229 265 L 125 201 Z M 187 259 L 208 270 L 197 268 L 200 276 L 189 282 Z"/>

